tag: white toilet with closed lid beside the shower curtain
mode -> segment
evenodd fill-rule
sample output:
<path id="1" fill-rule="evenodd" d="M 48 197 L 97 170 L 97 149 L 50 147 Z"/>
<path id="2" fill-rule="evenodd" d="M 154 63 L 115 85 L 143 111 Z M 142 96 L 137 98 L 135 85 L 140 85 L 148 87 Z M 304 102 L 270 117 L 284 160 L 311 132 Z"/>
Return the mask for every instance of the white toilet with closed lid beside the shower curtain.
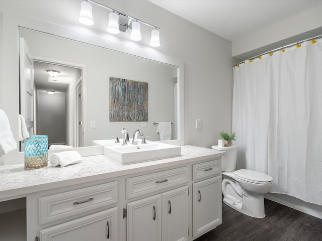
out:
<path id="1" fill-rule="evenodd" d="M 247 169 L 235 171 L 237 146 L 211 148 L 226 152 L 221 159 L 224 203 L 251 217 L 265 217 L 264 195 L 270 191 L 273 178 Z"/>

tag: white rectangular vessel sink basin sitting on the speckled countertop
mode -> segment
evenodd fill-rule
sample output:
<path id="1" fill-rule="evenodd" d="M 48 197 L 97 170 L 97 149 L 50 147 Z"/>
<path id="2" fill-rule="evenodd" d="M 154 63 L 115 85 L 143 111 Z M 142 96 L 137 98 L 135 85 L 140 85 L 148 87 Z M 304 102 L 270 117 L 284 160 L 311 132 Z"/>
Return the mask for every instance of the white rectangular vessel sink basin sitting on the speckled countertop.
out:
<path id="1" fill-rule="evenodd" d="M 127 146 L 111 145 L 104 147 L 104 154 L 124 165 L 177 157 L 181 155 L 181 147 L 160 142 Z"/>

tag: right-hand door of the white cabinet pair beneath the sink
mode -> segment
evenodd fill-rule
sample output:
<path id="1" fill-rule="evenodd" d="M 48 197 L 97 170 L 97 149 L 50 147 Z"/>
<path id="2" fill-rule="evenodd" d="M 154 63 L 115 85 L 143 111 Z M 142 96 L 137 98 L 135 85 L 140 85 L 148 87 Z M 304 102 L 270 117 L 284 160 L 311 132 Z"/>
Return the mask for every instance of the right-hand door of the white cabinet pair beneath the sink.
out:
<path id="1" fill-rule="evenodd" d="M 162 194 L 163 240 L 188 240 L 188 186 Z"/>

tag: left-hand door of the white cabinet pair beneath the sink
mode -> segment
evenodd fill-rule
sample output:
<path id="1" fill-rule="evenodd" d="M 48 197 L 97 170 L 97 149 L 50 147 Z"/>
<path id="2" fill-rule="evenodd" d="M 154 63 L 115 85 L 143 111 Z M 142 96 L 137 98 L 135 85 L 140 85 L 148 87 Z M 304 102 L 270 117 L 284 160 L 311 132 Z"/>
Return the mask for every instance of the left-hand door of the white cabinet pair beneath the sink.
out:
<path id="1" fill-rule="evenodd" d="M 127 240 L 161 241 L 161 195 L 155 195 L 127 204 Z"/>

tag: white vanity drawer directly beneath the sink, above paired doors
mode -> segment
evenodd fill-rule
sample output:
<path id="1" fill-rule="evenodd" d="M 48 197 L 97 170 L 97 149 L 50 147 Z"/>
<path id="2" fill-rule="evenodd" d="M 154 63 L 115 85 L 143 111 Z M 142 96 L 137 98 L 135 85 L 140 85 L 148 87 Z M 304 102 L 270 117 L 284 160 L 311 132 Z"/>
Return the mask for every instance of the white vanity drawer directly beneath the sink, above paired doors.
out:
<path id="1" fill-rule="evenodd" d="M 188 181 L 188 167 L 156 172 L 126 179 L 126 198 L 133 198 L 184 184 Z"/>

